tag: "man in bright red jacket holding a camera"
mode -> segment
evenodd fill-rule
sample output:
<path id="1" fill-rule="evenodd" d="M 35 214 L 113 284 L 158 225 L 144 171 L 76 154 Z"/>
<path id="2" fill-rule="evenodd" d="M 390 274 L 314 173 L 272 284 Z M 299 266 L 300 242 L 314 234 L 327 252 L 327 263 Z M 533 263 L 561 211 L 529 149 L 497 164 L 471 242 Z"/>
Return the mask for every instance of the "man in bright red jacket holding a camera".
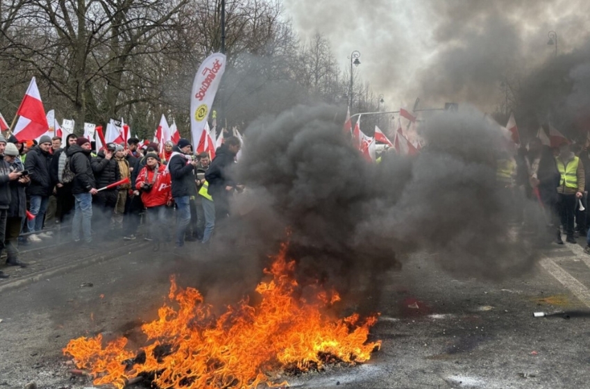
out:
<path id="1" fill-rule="evenodd" d="M 172 203 L 170 172 L 160 164 L 155 152 L 146 155 L 146 165 L 137 174 L 135 188 L 140 191 L 144 206 L 147 208 L 150 236 L 153 239 L 153 251 L 160 249 L 160 229 L 166 224 L 166 206 Z"/>

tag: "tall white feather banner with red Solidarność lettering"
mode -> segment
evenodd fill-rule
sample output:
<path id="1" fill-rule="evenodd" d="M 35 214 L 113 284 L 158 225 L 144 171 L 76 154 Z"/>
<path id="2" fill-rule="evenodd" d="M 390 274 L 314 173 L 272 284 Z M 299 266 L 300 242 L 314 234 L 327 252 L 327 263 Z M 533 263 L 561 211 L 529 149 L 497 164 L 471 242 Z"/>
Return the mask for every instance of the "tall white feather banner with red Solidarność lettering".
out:
<path id="1" fill-rule="evenodd" d="M 213 53 L 205 58 L 194 76 L 190 99 L 190 131 L 193 142 L 198 142 L 193 149 L 199 152 L 204 151 L 205 142 L 208 142 L 206 138 L 210 138 L 208 117 L 225 69 L 226 56 L 222 53 Z M 211 144 L 214 147 L 214 143 Z"/>

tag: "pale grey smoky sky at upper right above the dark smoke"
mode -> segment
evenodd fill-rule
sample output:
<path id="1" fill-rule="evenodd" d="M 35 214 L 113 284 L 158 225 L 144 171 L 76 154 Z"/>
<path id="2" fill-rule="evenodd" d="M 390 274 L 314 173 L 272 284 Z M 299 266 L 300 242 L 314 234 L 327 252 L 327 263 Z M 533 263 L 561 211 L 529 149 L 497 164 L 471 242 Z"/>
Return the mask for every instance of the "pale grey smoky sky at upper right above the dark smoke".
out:
<path id="1" fill-rule="evenodd" d="M 361 50 L 362 78 L 390 107 L 420 97 L 423 106 L 455 101 L 492 112 L 503 101 L 502 81 L 553 58 L 548 31 L 557 31 L 559 55 L 578 50 L 590 33 L 584 0 L 286 3 L 299 32 L 326 33 L 342 65 Z"/>

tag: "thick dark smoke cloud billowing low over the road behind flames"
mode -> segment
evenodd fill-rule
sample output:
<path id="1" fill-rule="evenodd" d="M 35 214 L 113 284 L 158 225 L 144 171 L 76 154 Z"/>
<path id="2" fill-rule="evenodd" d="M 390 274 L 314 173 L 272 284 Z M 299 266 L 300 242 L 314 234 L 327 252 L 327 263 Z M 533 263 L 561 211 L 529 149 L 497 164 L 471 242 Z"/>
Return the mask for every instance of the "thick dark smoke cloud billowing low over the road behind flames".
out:
<path id="1" fill-rule="evenodd" d="M 226 242 L 245 233 L 262 255 L 290 231 L 300 281 L 344 292 L 376 287 L 380 274 L 424 250 L 455 276 L 501 279 L 531 269 L 533 251 L 510 230 L 511 201 L 495 180 L 500 131 L 482 113 L 432 117 L 423 153 L 387 155 L 379 165 L 351 147 L 335 113 L 299 106 L 248 126 L 236 166 L 248 190 L 230 222 L 239 224 L 219 232 Z"/>

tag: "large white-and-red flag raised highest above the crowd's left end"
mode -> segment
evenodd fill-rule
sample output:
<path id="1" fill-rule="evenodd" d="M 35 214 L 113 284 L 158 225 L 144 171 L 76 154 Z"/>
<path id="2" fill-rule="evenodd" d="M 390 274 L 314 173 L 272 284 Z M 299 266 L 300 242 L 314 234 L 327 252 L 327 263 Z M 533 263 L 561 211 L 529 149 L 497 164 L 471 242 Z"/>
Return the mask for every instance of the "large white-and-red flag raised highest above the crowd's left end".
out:
<path id="1" fill-rule="evenodd" d="M 12 134 L 19 141 L 38 138 L 49 129 L 35 77 L 28 84 L 26 94 L 17 110 L 17 115 L 19 115 L 19 119 Z"/>

